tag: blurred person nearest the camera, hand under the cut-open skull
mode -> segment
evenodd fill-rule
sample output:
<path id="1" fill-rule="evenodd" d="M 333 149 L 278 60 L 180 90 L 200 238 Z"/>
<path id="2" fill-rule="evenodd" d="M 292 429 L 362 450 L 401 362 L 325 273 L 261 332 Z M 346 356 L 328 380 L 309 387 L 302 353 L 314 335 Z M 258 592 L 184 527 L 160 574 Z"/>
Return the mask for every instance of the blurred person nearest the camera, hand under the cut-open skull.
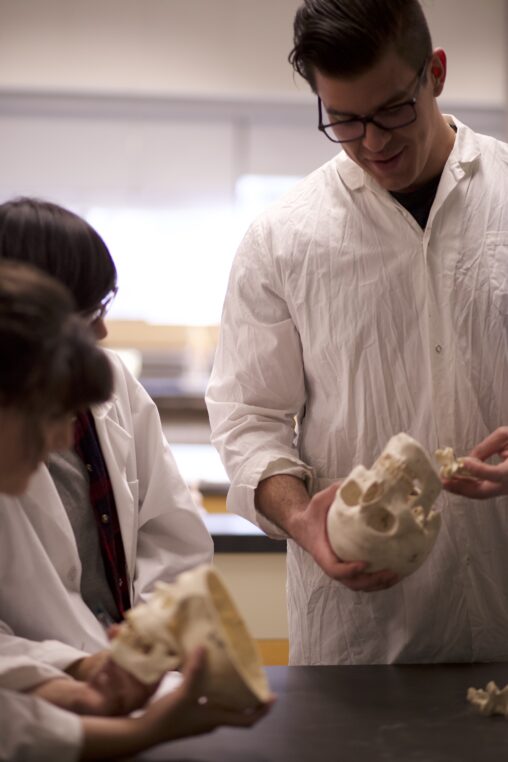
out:
<path id="1" fill-rule="evenodd" d="M 0 262 L 0 357 L 0 493 L 19 495 L 53 450 L 69 447 L 75 411 L 109 398 L 113 375 L 67 290 L 15 263 Z M 8 582 L 3 577 L 2 585 Z M 34 621 L 45 605 L 39 593 Z M 52 646 L 65 660 L 61 644 L 13 650 L 15 638 L 1 623 L 0 630 L 0 758 L 9 762 L 130 756 L 219 725 L 249 727 L 268 709 L 245 715 L 199 703 L 204 654 L 196 650 L 177 690 L 142 717 L 93 716 L 112 711 L 96 679 L 74 680 L 40 660 Z"/>

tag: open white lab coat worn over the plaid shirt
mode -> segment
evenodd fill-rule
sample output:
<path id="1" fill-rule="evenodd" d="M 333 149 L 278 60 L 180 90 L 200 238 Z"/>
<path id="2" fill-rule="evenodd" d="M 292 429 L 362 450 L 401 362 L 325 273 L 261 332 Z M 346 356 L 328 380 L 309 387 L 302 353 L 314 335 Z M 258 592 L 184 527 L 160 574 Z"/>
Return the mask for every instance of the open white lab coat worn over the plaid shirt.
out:
<path id="1" fill-rule="evenodd" d="M 178 473 L 159 415 L 120 359 L 108 353 L 112 399 L 93 409 L 120 520 L 133 604 L 156 580 L 209 562 L 210 535 Z M 80 595 L 81 563 L 71 524 L 46 466 L 20 498 L 0 497 L 0 619 L 16 636 L 59 640 L 94 652 L 107 645 Z M 31 654 L 33 644 L 26 643 Z M 0 638 L 0 653 L 2 640 Z M 65 668 L 73 653 L 38 645 L 34 658 Z M 46 659 L 43 659 L 46 660 Z"/>

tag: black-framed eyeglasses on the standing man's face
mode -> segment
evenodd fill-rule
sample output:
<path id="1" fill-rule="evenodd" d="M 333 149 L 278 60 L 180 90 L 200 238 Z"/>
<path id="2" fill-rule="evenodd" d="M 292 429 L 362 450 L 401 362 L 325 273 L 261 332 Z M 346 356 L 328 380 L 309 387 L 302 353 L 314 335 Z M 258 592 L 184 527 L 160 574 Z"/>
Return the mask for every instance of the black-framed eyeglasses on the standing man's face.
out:
<path id="1" fill-rule="evenodd" d="M 318 130 L 324 132 L 328 140 L 333 143 L 350 143 L 352 140 L 361 140 L 365 137 L 368 124 L 375 124 L 382 130 L 396 130 L 399 127 L 407 127 L 416 121 L 416 99 L 418 92 L 423 84 L 425 71 L 429 58 L 423 62 L 423 66 L 418 71 L 416 85 L 413 97 L 402 103 L 395 103 L 393 106 L 379 109 L 371 116 L 356 116 L 345 114 L 344 118 L 338 119 L 330 124 L 323 124 L 323 106 L 321 98 L 318 96 L 319 123 Z"/>

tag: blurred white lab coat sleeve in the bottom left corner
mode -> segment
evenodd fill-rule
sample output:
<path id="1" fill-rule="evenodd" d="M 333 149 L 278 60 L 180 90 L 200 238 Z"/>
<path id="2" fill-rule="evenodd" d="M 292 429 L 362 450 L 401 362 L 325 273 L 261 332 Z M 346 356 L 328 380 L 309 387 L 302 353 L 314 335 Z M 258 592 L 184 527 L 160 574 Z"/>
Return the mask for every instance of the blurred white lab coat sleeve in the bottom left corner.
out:
<path id="1" fill-rule="evenodd" d="M 0 690 L 0 761 L 76 762 L 80 718 L 42 699 Z"/>

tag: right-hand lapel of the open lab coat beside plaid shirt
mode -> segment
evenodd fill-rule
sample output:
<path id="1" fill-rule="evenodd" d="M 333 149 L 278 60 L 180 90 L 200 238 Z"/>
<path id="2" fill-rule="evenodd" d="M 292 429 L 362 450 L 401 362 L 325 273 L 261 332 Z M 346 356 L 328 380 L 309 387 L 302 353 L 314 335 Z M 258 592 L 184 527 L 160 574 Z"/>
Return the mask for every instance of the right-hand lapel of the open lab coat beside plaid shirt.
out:
<path id="1" fill-rule="evenodd" d="M 92 408 L 92 413 L 115 496 L 132 597 L 138 525 L 137 484 L 129 484 L 128 459 L 132 436 L 114 420 L 114 409 L 111 400 L 103 405 L 96 405 Z"/>

